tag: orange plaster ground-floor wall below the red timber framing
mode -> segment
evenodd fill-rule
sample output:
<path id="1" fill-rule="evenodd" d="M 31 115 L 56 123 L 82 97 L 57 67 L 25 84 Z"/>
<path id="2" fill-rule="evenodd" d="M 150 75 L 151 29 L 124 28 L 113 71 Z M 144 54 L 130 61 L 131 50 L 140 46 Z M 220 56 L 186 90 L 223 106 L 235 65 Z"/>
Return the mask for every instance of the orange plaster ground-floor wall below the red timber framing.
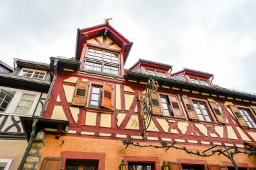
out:
<path id="1" fill-rule="evenodd" d="M 64 144 L 61 144 L 61 140 L 65 140 Z M 214 155 L 212 157 L 197 157 L 195 155 L 188 155 L 184 151 L 178 151 L 174 148 L 170 148 L 165 151 L 163 148 L 138 148 L 135 146 L 129 146 L 125 149 L 121 140 L 109 140 L 99 138 L 86 138 L 75 136 L 61 136 L 59 140 L 55 139 L 53 135 L 46 135 L 44 137 L 45 146 L 40 150 L 43 157 L 60 157 L 61 152 L 85 152 L 85 153 L 105 153 L 106 154 L 106 170 L 119 169 L 119 165 L 123 157 L 156 157 L 162 165 L 163 161 L 177 162 L 177 159 L 193 159 L 193 160 L 205 160 L 207 164 L 223 165 L 222 161 L 230 162 L 229 159 L 223 155 Z M 143 142 L 140 142 L 143 144 Z M 150 144 L 150 143 L 144 143 Z M 157 143 L 152 143 L 156 145 Z M 179 146 L 177 144 L 177 146 Z M 184 145 L 183 145 L 184 146 Z M 209 146 L 192 146 L 187 148 L 194 151 L 204 151 Z M 256 156 L 247 157 L 247 155 L 235 155 L 234 160 L 236 163 L 248 163 L 249 167 L 256 167 Z M 40 163 L 41 164 L 41 163 Z M 41 166 L 39 165 L 38 168 Z"/>

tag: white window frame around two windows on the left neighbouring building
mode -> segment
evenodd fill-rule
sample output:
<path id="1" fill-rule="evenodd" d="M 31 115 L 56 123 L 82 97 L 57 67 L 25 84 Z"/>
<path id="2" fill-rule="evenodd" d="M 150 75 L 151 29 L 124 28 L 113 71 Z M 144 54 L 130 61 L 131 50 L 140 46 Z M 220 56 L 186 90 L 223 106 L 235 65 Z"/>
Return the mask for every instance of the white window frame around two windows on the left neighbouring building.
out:
<path id="1" fill-rule="evenodd" d="M 36 110 L 36 105 L 40 99 L 41 93 L 35 92 L 35 91 L 28 91 L 28 90 L 23 90 L 23 89 L 13 89 L 10 87 L 3 87 L 0 86 L 0 89 L 3 90 L 9 90 L 9 91 L 15 91 L 15 95 L 13 95 L 13 98 L 11 99 L 11 103 L 9 103 L 7 109 L 5 112 L 0 112 L 0 113 L 6 113 L 6 114 L 11 114 L 11 115 L 16 115 L 16 116 L 32 116 L 34 111 Z M 32 107 L 30 109 L 30 112 L 28 114 L 15 114 L 15 109 L 18 106 L 18 103 L 20 102 L 20 99 L 22 98 L 23 93 L 30 93 L 32 95 L 36 95 L 34 102 L 32 104 Z"/>

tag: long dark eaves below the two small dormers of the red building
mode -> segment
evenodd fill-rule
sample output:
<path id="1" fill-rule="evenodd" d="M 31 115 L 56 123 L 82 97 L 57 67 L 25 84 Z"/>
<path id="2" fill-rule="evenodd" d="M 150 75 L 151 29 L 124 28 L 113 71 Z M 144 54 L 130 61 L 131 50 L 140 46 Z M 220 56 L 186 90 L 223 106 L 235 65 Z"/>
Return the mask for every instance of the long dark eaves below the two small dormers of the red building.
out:
<path id="1" fill-rule="evenodd" d="M 203 85 L 197 85 L 193 83 L 188 83 L 185 81 L 179 81 L 179 80 L 174 80 L 174 79 L 166 79 L 162 77 L 156 77 L 152 75 L 145 75 L 142 73 L 137 73 L 134 71 L 127 71 L 126 73 L 126 79 L 135 79 L 135 80 L 141 80 L 145 79 L 148 80 L 150 78 L 154 78 L 158 83 L 161 83 L 163 85 L 170 85 L 171 87 L 178 87 L 181 89 L 189 89 L 193 91 L 200 91 L 203 93 L 212 93 L 215 95 L 224 95 L 228 97 L 238 97 L 238 98 L 243 98 L 243 99 L 249 99 L 249 100 L 256 100 L 256 95 L 253 93 L 243 93 L 241 91 L 236 91 L 236 90 L 231 90 L 231 89 L 224 89 L 224 88 L 218 88 L 218 87 L 207 87 Z"/>

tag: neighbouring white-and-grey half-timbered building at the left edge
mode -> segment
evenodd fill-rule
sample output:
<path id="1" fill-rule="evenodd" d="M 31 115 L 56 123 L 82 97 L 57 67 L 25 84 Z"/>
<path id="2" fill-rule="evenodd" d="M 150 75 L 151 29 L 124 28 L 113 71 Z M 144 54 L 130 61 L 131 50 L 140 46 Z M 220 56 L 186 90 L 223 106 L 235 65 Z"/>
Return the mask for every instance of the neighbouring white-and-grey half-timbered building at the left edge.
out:
<path id="1" fill-rule="evenodd" d="M 50 87 L 49 64 L 14 59 L 0 73 L 0 169 L 17 169 L 27 146 L 20 116 L 39 117 Z"/>

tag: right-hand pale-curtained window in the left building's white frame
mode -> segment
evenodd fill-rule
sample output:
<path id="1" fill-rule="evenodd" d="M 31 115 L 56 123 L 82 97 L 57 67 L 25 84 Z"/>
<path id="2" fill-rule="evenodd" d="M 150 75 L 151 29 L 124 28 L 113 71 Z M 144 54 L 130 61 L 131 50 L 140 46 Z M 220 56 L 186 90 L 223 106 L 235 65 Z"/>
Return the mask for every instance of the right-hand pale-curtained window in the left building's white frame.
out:
<path id="1" fill-rule="evenodd" d="M 20 102 L 18 103 L 18 106 L 14 111 L 15 114 L 29 114 L 35 98 L 36 95 L 23 93 L 22 98 L 20 99 Z"/>

